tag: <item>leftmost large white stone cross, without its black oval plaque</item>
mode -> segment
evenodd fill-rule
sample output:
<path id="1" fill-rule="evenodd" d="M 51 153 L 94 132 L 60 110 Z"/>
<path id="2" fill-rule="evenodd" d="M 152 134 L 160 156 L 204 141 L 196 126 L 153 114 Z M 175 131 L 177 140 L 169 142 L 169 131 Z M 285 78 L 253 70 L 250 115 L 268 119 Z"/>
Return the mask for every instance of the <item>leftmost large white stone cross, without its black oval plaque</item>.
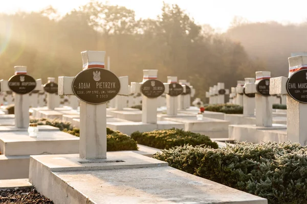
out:
<path id="1" fill-rule="evenodd" d="M 27 74 L 26 66 L 14 66 L 15 75 Z M 8 81 L 1 80 L 1 91 L 10 91 Z M 34 90 L 41 90 L 41 79 L 36 80 L 36 87 Z M 30 97 L 27 94 L 14 93 L 14 113 L 15 113 L 15 127 L 27 129 L 29 127 L 29 108 L 30 108 Z"/>

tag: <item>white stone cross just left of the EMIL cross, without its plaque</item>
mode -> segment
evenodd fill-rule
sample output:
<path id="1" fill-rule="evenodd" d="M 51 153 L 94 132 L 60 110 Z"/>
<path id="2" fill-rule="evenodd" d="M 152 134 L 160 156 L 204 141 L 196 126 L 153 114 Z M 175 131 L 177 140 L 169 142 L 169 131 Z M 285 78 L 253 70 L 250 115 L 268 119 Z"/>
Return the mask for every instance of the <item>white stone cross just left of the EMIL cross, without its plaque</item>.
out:
<path id="1" fill-rule="evenodd" d="M 247 84 L 245 92 L 247 94 L 255 94 L 256 103 L 256 126 L 270 127 L 272 126 L 272 96 L 261 95 L 256 86 L 261 80 L 270 80 L 270 71 L 256 71 L 256 82 L 254 84 Z"/>

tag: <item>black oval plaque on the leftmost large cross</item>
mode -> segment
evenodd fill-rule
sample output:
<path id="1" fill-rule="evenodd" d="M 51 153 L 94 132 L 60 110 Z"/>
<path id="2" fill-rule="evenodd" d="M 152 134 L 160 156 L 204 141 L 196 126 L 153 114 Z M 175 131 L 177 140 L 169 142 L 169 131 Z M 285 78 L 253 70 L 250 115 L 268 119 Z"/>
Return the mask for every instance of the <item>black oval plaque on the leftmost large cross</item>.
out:
<path id="1" fill-rule="evenodd" d="M 27 74 L 17 74 L 9 79 L 8 85 L 17 94 L 27 94 L 35 89 L 36 81 Z"/>

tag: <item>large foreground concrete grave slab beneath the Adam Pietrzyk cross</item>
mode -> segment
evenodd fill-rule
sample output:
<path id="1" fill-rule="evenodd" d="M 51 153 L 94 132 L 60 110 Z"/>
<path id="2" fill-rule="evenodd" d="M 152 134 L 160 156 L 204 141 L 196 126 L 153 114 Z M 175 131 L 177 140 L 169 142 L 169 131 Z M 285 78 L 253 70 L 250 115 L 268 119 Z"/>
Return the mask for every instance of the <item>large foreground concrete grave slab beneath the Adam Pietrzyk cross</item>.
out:
<path id="1" fill-rule="evenodd" d="M 134 152 L 108 152 L 107 158 L 124 162 L 92 163 L 78 155 L 31 156 L 29 181 L 55 204 L 267 203 Z"/>

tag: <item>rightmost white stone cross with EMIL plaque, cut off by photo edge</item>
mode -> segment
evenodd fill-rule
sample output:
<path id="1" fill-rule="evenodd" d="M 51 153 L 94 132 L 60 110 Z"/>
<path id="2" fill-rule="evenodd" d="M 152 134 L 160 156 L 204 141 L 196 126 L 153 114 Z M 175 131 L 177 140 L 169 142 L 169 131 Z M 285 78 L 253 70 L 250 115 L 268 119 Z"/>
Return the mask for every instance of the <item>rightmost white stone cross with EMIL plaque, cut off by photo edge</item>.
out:
<path id="1" fill-rule="evenodd" d="M 301 145 L 307 145 L 307 104 L 306 101 L 306 72 L 307 56 L 295 56 L 288 58 L 289 60 L 289 81 L 292 75 L 302 74 L 300 77 L 294 78 L 292 83 L 288 83 L 287 77 L 277 77 L 270 79 L 270 94 L 287 95 L 287 137 L 291 142 L 298 142 Z M 294 77 L 294 76 L 293 76 Z M 295 83 L 296 82 L 296 83 Z M 288 84 L 288 87 L 287 87 Z M 294 99 L 289 92 L 293 93 Z M 299 101 L 300 100 L 300 101 Z"/>

